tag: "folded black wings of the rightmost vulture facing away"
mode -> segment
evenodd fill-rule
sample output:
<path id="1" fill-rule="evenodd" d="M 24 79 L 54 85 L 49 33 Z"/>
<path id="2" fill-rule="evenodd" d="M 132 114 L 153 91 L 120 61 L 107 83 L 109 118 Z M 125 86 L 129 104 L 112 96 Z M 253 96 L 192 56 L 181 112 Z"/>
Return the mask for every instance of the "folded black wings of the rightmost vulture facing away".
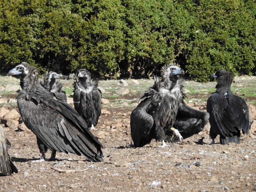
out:
<path id="1" fill-rule="evenodd" d="M 226 98 L 227 97 L 227 98 Z M 228 136 L 230 132 L 237 132 L 236 128 L 248 134 L 249 110 L 245 101 L 233 94 L 224 96 L 213 93 L 207 100 L 209 122 L 215 134 Z"/>

